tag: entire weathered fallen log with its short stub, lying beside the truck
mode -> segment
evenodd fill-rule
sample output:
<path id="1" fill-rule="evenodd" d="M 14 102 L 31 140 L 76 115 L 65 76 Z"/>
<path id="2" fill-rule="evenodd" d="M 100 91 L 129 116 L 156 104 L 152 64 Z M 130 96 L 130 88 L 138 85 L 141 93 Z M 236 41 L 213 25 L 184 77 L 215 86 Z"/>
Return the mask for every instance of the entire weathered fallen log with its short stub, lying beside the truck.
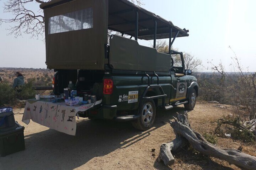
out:
<path id="1" fill-rule="evenodd" d="M 236 149 L 221 149 L 206 141 L 201 134 L 190 128 L 187 112 L 178 114 L 177 118 L 174 118 L 174 120 L 175 121 L 170 122 L 170 124 L 174 129 L 176 138 L 170 143 L 161 145 L 158 161 L 163 160 L 165 165 L 173 164 L 174 158 L 171 151 L 177 151 L 177 149 L 186 146 L 188 142 L 195 150 L 204 155 L 226 160 L 230 164 L 234 164 L 242 169 L 256 169 L 255 156 L 242 153 L 240 150 Z"/>

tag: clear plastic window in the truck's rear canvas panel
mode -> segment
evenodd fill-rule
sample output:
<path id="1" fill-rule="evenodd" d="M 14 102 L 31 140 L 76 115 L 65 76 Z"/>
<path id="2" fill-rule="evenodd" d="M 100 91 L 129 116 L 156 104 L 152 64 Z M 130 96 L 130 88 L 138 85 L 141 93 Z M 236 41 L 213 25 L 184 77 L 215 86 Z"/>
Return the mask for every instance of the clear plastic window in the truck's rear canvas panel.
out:
<path id="1" fill-rule="evenodd" d="M 48 34 L 89 28 L 93 28 L 92 8 L 50 17 Z"/>

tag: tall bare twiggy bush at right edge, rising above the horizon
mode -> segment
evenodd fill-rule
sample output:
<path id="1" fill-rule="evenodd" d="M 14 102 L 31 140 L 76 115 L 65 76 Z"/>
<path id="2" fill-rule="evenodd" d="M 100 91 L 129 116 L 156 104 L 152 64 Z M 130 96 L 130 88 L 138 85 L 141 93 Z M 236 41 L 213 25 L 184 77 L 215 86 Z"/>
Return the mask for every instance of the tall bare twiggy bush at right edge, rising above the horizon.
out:
<path id="1" fill-rule="evenodd" d="M 232 50 L 230 46 L 229 48 Z M 208 63 L 211 64 L 212 70 L 221 75 L 219 88 L 225 94 L 225 100 L 229 100 L 232 105 L 236 106 L 236 115 L 244 120 L 256 119 L 256 72 L 244 71 L 237 55 L 234 51 L 233 53 L 234 57 L 231 57 L 232 64 L 230 64 L 233 67 L 231 72 L 227 72 L 221 62 L 218 65 L 211 61 Z M 245 110 L 239 110 L 240 106 L 244 106 Z"/>

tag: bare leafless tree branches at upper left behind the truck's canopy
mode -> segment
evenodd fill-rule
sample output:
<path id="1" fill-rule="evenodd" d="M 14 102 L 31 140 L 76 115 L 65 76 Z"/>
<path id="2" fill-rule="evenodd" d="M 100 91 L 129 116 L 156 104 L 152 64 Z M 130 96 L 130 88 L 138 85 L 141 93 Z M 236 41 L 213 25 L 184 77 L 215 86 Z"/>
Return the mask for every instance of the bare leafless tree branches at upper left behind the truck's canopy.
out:
<path id="1" fill-rule="evenodd" d="M 51 0 L 7 0 L 4 3 L 4 12 L 11 13 L 12 18 L 0 18 L 2 23 L 10 24 L 8 35 L 14 35 L 15 38 L 21 36 L 22 33 L 30 34 L 31 37 L 44 37 L 44 16 L 39 5 Z M 143 5 L 142 0 L 129 0 L 138 6 Z M 32 6 L 37 5 L 38 10 L 33 11 Z"/>

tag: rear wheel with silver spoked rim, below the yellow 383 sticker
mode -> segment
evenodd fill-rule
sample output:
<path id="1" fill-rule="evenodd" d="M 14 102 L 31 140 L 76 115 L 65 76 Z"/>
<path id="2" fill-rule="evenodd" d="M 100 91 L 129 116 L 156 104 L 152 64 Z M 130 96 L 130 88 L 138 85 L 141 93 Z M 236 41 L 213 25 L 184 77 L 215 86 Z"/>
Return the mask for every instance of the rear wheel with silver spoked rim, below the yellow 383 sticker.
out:
<path id="1" fill-rule="evenodd" d="M 139 130 L 148 130 L 155 121 L 155 103 L 152 99 L 143 102 L 139 109 L 139 119 L 133 120 L 132 125 Z"/>

